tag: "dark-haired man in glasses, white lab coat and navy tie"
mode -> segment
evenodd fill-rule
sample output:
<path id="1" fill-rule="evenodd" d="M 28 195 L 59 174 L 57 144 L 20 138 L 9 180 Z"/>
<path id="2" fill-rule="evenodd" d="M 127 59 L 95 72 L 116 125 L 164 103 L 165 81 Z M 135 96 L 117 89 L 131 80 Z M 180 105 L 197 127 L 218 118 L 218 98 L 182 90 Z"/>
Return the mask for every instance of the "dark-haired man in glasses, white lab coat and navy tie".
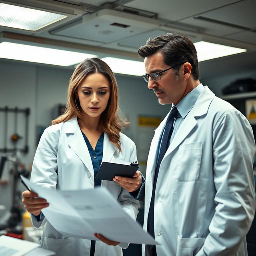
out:
<path id="1" fill-rule="evenodd" d="M 152 139 L 146 182 L 139 172 L 114 179 L 135 198 L 145 192 L 144 230 L 159 245 L 142 245 L 142 255 L 247 255 L 255 210 L 248 120 L 200 84 L 187 36 L 150 38 L 138 53 L 148 88 L 160 104 L 172 104 Z"/>

